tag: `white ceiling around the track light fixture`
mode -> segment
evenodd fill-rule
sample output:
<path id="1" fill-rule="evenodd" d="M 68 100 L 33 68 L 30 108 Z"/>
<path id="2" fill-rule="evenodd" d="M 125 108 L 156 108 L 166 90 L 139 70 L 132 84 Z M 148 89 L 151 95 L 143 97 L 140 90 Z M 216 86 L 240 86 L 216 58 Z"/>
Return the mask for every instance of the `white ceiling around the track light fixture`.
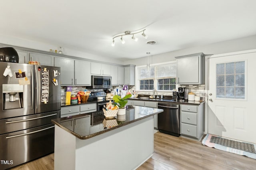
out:
<path id="1" fill-rule="evenodd" d="M 255 7 L 256 0 L 1 0 L 0 34 L 127 60 L 256 35 Z M 111 46 L 114 36 L 143 29 L 147 40 L 124 36 Z"/>

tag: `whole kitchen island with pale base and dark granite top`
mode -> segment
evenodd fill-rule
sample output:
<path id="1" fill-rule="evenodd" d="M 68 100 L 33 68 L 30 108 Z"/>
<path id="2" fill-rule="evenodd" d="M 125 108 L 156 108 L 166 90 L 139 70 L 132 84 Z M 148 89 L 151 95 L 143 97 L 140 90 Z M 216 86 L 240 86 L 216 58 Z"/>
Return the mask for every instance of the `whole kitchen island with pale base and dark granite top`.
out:
<path id="1" fill-rule="evenodd" d="M 102 111 L 54 119 L 54 169 L 136 169 L 154 151 L 153 116 L 162 109 L 128 106 L 106 119 Z"/>

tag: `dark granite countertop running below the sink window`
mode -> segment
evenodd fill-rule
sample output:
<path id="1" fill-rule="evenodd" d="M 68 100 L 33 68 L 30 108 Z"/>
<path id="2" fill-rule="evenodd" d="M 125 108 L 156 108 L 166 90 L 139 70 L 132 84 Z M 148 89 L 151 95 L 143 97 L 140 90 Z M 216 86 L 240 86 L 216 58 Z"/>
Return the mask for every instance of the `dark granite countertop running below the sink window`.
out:
<path id="1" fill-rule="evenodd" d="M 174 104 L 193 104 L 193 105 L 200 105 L 204 103 L 204 101 L 184 101 L 179 102 L 172 99 L 150 99 L 150 98 L 129 98 L 131 100 L 144 100 L 144 101 L 156 101 L 160 103 L 174 103 Z"/>

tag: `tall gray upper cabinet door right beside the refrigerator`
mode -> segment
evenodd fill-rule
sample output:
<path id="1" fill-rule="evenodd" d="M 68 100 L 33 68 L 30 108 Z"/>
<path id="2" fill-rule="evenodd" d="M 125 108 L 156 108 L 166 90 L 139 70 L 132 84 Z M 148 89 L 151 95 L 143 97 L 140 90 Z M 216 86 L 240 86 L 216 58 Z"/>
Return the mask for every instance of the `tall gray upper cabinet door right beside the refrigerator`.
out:
<path id="1" fill-rule="evenodd" d="M 74 85 L 74 59 L 54 57 L 54 66 L 60 67 L 61 85 Z"/>

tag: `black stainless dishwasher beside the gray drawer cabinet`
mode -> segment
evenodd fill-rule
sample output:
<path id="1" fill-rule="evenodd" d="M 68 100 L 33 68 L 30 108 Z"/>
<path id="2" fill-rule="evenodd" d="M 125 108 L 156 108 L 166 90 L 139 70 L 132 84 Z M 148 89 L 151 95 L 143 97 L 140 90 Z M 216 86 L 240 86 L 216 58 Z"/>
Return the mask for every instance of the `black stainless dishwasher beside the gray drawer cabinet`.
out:
<path id="1" fill-rule="evenodd" d="M 159 132 L 180 136 L 180 105 L 158 103 L 158 109 L 164 109 L 158 114 Z"/>

